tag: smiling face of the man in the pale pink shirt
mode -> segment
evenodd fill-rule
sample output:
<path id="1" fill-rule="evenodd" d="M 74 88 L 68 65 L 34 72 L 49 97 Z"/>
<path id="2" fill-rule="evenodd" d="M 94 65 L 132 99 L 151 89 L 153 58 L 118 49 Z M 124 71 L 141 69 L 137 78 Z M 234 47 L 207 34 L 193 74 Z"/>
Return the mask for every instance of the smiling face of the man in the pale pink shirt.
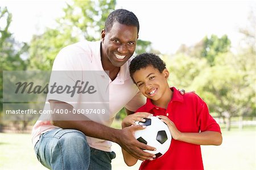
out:
<path id="1" fill-rule="evenodd" d="M 109 66 L 121 67 L 133 55 L 138 39 L 136 26 L 115 22 L 108 32 L 102 30 L 102 62 Z M 109 62 L 110 61 L 110 62 Z"/>

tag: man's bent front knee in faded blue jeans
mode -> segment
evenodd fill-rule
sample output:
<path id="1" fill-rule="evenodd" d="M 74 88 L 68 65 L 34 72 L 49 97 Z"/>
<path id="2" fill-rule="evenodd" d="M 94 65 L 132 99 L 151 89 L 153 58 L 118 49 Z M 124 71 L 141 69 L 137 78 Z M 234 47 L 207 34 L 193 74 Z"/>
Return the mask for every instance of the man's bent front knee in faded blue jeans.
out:
<path id="1" fill-rule="evenodd" d="M 61 131 L 55 135 L 59 139 L 52 150 L 52 169 L 87 169 L 90 163 L 90 147 L 86 136 L 77 130 Z"/>

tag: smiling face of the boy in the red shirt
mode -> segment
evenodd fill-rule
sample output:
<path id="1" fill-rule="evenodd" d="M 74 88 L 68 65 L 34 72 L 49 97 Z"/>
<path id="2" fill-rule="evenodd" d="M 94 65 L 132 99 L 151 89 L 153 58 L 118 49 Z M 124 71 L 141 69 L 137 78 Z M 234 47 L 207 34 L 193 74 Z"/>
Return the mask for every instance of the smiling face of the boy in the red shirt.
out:
<path id="1" fill-rule="evenodd" d="M 160 73 L 158 69 L 150 65 L 136 71 L 133 74 L 133 79 L 144 96 L 153 101 L 158 101 L 164 97 L 166 90 L 170 89 L 167 82 L 168 76 L 167 69 Z"/>

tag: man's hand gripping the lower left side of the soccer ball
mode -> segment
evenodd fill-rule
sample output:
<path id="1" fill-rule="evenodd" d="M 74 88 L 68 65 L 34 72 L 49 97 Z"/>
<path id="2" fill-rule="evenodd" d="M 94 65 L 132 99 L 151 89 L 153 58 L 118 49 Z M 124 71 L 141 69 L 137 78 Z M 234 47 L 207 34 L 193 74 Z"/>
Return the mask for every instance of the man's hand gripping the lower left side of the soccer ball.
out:
<path id="1" fill-rule="evenodd" d="M 134 138 L 134 131 L 142 130 L 143 126 L 135 125 L 125 127 L 121 130 L 118 136 L 117 143 L 119 146 L 123 148 L 123 150 L 127 151 L 130 155 L 139 160 L 152 160 L 155 158 L 154 154 L 150 154 L 143 150 L 154 151 L 155 148 L 148 146 L 144 143 L 139 142 Z"/>

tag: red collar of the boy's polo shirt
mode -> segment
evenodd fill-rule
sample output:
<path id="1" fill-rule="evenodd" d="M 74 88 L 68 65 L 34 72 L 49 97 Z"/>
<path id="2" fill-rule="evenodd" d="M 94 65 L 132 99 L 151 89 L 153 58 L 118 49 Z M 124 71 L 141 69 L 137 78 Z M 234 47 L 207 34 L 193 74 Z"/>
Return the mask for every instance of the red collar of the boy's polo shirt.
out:
<path id="1" fill-rule="evenodd" d="M 177 90 L 175 87 L 171 87 L 170 88 L 172 90 L 172 99 L 170 102 L 183 102 L 183 96 L 180 94 L 179 90 Z M 169 103 L 170 103 L 169 102 Z M 151 102 L 151 99 L 147 98 L 147 102 L 146 102 L 146 107 L 144 107 L 146 112 L 149 112 L 150 110 L 154 109 L 154 108 L 159 108 L 158 106 L 154 105 Z"/>

